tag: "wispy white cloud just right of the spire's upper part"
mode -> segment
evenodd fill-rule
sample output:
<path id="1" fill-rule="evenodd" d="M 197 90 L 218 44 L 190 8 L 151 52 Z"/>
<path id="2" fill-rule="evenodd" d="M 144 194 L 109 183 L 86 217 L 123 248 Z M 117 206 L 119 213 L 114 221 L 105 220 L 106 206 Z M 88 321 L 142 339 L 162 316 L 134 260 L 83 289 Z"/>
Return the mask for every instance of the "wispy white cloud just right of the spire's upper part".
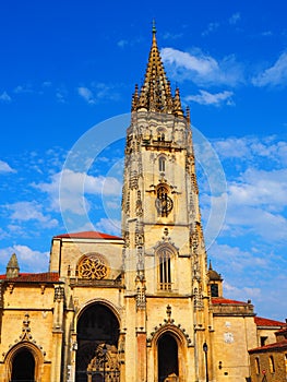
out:
<path id="1" fill-rule="evenodd" d="M 198 85 L 235 86 L 243 82 L 241 65 L 235 56 L 220 61 L 200 49 L 186 52 L 174 48 L 162 49 L 162 58 L 170 75 L 177 81 L 192 81 Z"/>

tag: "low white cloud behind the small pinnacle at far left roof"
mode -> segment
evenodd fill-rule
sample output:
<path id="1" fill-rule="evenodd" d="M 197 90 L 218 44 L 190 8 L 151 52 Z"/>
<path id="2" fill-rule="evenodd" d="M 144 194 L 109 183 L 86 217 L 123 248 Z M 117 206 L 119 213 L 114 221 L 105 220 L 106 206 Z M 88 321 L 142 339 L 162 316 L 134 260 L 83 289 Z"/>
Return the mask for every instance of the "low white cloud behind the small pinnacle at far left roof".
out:
<path id="1" fill-rule="evenodd" d="M 17 256 L 20 272 L 48 271 L 49 252 L 35 251 L 21 244 L 0 249 L 0 265 L 7 266 L 13 253 Z"/>

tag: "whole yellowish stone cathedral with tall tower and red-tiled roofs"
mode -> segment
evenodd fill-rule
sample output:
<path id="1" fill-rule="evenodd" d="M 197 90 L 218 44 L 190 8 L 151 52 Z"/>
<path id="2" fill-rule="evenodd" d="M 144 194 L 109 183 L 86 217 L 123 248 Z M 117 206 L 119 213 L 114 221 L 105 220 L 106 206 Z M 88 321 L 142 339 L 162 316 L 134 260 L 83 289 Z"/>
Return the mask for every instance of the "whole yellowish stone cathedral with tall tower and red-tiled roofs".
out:
<path id="1" fill-rule="evenodd" d="M 190 111 L 171 91 L 155 28 L 122 184 L 121 237 L 55 236 L 46 273 L 21 273 L 11 253 L 0 275 L 0 380 L 251 381 L 248 350 L 275 343 L 284 324 L 226 299 L 207 262 Z"/>

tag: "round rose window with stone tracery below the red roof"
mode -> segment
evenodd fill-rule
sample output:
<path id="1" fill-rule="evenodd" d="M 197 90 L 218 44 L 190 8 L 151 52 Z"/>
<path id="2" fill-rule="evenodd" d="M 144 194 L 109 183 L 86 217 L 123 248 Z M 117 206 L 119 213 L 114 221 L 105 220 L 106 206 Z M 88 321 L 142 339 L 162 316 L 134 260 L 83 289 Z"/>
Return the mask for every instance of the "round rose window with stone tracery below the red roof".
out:
<path id="1" fill-rule="evenodd" d="M 101 279 L 107 273 L 107 265 L 98 254 L 85 256 L 79 264 L 79 276 L 82 278 Z"/>

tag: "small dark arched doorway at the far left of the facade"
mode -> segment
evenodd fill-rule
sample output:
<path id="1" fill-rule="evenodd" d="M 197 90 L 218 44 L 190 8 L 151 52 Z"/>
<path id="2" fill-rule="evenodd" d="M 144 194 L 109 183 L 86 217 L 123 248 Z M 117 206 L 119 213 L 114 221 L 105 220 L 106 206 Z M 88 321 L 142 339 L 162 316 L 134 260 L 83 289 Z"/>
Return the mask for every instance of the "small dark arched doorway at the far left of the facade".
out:
<path id="1" fill-rule="evenodd" d="M 12 360 L 11 382 L 34 382 L 35 381 L 35 358 L 26 349 L 20 349 Z"/>

